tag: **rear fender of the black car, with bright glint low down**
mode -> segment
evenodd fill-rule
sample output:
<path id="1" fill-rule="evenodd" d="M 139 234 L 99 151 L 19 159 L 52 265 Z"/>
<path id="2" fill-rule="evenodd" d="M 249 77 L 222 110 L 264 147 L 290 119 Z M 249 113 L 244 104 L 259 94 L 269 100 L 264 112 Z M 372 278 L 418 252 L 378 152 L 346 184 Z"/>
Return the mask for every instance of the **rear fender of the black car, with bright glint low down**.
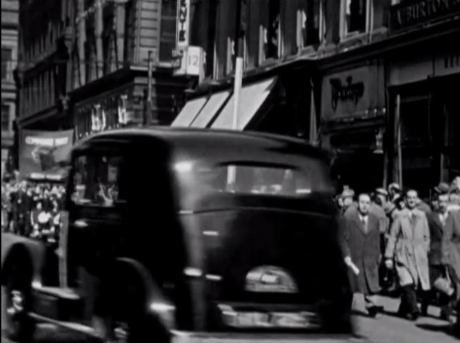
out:
<path id="1" fill-rule="evenodd" d="M 175 306 L 166 298 L 159 284 L 152 278 L 150 271 L 141 262 L 132 258 L 117 258 L 110 269 L 110 274 L 106 287 L 111 289 L 116 289 L 110 285 L 113 286 L 113 282 L 116 282 L 117 279 L 134 277 L 136 280 L 132 280 L 132 282 L 137 282 L 139 291 L 142 292 L 145 314 L 153 315 L 164 328 L 174 329 L 175 323 L 172 322 L 174 315 L 172 314 L 175 311 Z M 103 287 L 103 292 L 104 289 L 107 290 L 106 287 Z M 117 294 L 112 293 L 112 296 L 117 298 Z"/>

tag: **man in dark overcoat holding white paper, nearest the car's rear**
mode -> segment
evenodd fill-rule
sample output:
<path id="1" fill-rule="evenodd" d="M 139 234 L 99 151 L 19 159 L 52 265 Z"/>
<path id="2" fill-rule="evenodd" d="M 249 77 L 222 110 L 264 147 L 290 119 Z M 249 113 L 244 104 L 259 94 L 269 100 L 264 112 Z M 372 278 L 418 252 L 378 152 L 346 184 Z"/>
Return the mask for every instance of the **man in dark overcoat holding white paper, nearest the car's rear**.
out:
<path id="1" fill-rule="evenodd" d="M 354 293 L 362 293 L 370 317 L 377 315 L 379 287 L 380 231 L 379 218 L 370 212 L 369 194 L 360 194 L 358 205 L 345 214 L 343 253 L 350 267 Z"/>

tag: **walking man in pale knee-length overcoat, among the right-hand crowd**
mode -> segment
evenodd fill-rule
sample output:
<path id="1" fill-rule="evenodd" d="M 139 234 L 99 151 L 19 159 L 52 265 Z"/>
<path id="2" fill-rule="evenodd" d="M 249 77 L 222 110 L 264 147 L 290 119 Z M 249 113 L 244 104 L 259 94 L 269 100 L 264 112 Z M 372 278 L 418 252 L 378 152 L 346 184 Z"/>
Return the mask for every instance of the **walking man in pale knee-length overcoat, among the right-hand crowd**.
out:
<path id="1" fill-rule="evenodd" d="M 426 214 L 417 209 L 417 202 L 417 191 L 408 191 L 406 208 L 397 214 L 392 224 L 385 252 L 386 266 L 391 269 L 396 265 L 403 291 L 398 313 L 410 320 L 417 320 L 420 315 L 416 290 L 430 290 L 430 229 Z"/>

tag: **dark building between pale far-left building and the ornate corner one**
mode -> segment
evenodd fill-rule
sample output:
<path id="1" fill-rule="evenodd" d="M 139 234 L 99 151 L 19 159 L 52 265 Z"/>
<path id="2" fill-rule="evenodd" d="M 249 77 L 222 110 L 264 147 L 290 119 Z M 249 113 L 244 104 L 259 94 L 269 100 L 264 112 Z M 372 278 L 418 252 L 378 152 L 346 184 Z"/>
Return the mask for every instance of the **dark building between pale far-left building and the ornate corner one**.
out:
<path id="1" fill-rule="evenodd" d="M 68 128 L 72 3 L 19 3 L 19 136 L 21 129 Z"/>

